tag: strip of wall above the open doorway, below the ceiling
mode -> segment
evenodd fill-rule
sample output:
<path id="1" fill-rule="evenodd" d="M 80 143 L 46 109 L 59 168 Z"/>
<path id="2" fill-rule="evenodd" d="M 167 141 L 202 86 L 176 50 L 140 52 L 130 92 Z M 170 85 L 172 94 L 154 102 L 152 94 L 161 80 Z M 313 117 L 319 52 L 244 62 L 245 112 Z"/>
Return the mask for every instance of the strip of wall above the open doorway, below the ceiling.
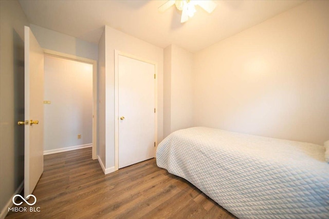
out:
<path id="1" fill-rule="evenodd" d="M 98 60 L 97 44 L 31 24 L 30 28 L 44 49 Z"/>

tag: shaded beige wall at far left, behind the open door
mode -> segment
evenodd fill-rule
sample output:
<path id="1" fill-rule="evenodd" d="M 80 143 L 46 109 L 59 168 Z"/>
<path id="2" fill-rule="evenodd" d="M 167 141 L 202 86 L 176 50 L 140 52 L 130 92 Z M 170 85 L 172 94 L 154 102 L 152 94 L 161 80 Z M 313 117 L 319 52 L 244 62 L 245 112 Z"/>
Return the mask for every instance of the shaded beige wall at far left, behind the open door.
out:
<path id="1" fill-rule="evenodd" d="M 17 1 L 0 1 L 0 218 L 24 180 L 24 25 Z"/>

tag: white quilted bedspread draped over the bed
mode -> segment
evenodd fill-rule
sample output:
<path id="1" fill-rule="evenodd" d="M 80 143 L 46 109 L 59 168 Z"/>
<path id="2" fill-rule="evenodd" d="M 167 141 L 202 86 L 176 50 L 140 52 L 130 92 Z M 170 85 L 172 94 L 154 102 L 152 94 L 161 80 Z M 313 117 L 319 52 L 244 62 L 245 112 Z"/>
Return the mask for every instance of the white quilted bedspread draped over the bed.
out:
<path id="1" fill-rule="evenodd" d="M 329 218 L 321 145 L 194 127 L 166 137 L 156 162 L 239 218 Z"/>

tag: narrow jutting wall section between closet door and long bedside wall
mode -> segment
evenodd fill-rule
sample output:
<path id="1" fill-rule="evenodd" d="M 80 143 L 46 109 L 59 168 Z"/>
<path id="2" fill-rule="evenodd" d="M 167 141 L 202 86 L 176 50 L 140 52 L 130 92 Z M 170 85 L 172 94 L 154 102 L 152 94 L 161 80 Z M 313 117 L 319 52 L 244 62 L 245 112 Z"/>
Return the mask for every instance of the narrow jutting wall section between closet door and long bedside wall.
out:
<path id="1" fill-rule="evenodd" d="M 193 126 L 193 54 L 175 45 L 164 50 L 164 136 Z"/>

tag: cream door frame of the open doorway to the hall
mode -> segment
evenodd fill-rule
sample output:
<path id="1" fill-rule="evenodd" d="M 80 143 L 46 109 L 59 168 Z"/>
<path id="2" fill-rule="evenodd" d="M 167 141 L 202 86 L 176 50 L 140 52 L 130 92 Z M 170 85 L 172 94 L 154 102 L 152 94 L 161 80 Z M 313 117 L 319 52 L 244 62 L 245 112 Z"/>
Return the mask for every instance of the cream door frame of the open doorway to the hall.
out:
<path id="1" fill-rule="evenodd" d="M 84 58 L 76 55 L 70 55 L 54 50 L 43 49 L 44 54 L 51 55 L 54 57 L 69 59 L 72 61 L 82 62 L 93 65 L 93 146 L 92 146 L 92 158 L 97 159 L 97 148 L 98 148 L 98 71 L 97 71 L 97 61 L 94 59 Z"/>

